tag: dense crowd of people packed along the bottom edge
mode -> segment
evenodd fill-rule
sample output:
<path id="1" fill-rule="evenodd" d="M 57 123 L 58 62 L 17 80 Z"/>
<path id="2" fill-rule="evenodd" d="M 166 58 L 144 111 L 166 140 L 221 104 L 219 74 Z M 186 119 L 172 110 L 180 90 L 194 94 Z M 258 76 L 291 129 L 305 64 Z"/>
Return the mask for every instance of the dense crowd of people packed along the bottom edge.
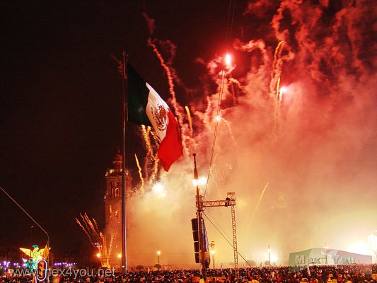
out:
<path id="1" fill-rule="evenodd" d="M 311 266 L 307 268 L 294 267 L 251 267 L 240 268 L 236 278 L 234 269 L 207 270 L 206 280 L 199 270 L 159 270 L 137 271 L 125 274 L 115 273 L 110 276 L 94 274 L 74 276 L 50 276 L 51 283 L 152 283 L 152 282 L 310 282 L 310 283 L 361 283 L 377 282 L 377 265 L 338 265 Z M 35 282 L 30 276 L 4 276 L 0 283 L 30 283 Z"/>

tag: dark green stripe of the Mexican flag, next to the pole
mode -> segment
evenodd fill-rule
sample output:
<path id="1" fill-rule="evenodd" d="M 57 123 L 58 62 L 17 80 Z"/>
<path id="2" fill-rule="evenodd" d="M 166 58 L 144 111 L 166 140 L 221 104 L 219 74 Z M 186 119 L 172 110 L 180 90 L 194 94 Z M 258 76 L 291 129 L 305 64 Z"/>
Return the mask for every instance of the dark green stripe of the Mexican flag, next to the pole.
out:
<path id="1" fill-rule="evenodd" d="M 146 104 L 148 103 L 149 89 L 144 79 L 137 74 L 137 71 L 127 64 L 127 104 L 128 120 L 141 125 L 151 126 L 146 115 Z"/>

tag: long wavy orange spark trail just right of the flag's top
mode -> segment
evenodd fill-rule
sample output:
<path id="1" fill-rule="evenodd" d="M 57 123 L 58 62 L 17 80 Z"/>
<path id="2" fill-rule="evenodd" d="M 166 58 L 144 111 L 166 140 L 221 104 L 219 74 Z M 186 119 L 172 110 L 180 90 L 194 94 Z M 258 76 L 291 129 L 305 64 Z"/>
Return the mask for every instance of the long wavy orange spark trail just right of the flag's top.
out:
<path id="1" fill-rule="evenodd" d="M 187 149 L 187 142 L 190 140 L 190 138 L 188 138 L 187 135 L 186 135 L 187 125 L 185 125 L 184 122 L 183 122 L 183 115 L 182 115 L 182 111 L 181 111 L 182 106 L 178 103 L 177 98 L 175 96 L 173 76 L 171 74 L 170 68 L 165 63 L 165 60 L 163 59 L 161 53 L 158 51 L 156 45 L 152 42 L 151 38 L 149 38 L 149 40 L 148 40 L 148 45 L 150 47 L 152 47 L 153 52 L 156 54 L 156 56 L 160 60 L 161 66 L 163 67 L 163 69 L 165 69 L 166 76 L 168 77 L 169 92 L 172 96 L 171 103 L 172 103 L 173 108 L 175 110 L 175 115 L 177 115 L 177 117 L 178 117 L 178 123 L 181 127 L 182 146 L 183 146 L 183 149 L 185 149 L 185 154 L 189 155 L 189 151 Z"/>

